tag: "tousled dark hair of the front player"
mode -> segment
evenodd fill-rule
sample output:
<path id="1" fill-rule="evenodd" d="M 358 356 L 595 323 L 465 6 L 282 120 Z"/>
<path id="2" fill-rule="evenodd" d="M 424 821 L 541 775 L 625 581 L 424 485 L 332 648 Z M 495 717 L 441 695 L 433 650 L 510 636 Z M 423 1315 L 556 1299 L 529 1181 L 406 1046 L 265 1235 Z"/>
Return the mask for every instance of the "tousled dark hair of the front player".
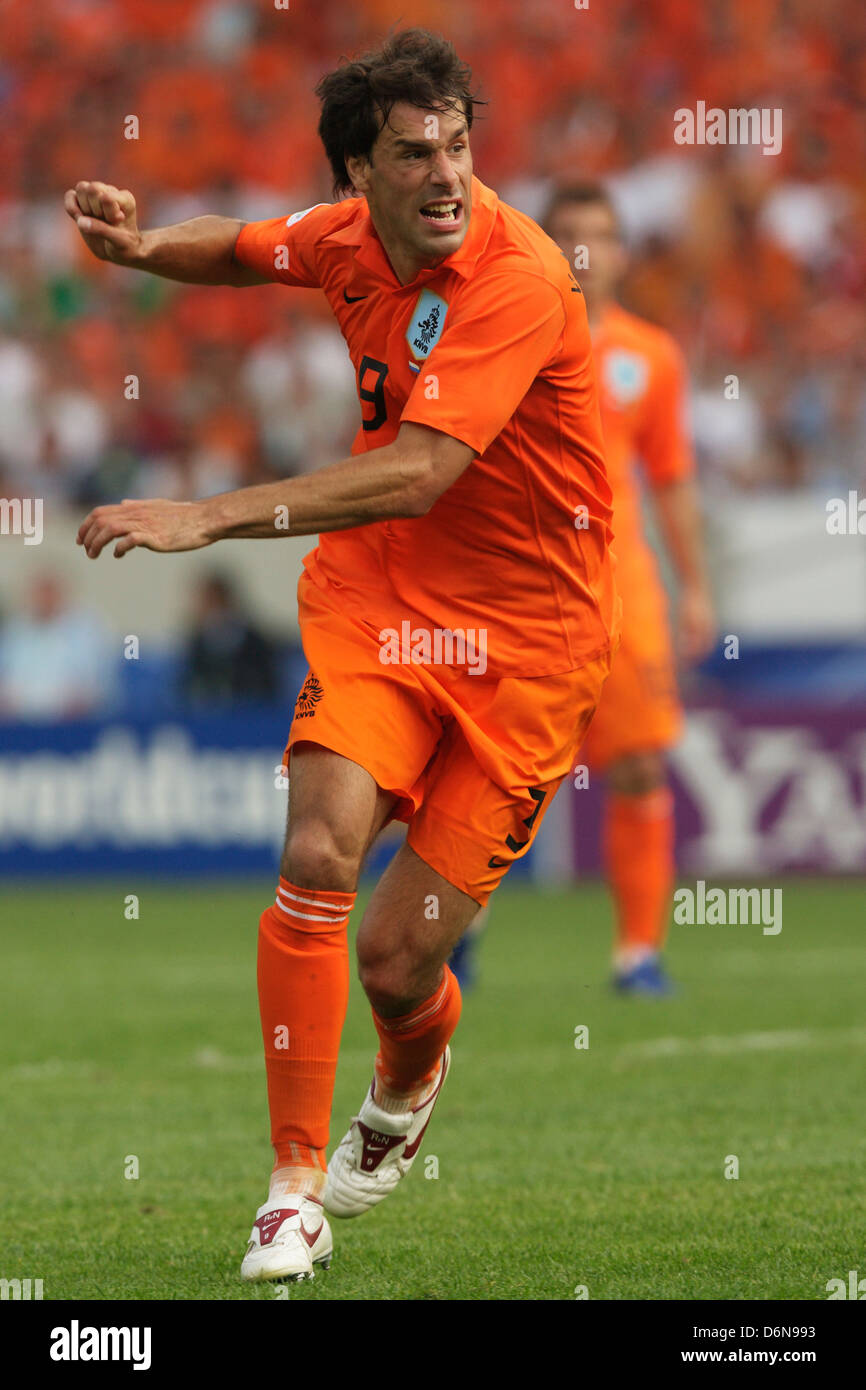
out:
<path id="1" fill-rule="evenodd" d="M 391 108 L 407 101 L 424 111 L 453 111 L 471 129 L 475 106 L 471 71 L 455 46 L 427 29 L 403 29 L 359 58 L 341 58 L 316 88 L 318 133 L 334 172 L 334 196 L 352 190 L 346 158 L 370 157 Z"/>

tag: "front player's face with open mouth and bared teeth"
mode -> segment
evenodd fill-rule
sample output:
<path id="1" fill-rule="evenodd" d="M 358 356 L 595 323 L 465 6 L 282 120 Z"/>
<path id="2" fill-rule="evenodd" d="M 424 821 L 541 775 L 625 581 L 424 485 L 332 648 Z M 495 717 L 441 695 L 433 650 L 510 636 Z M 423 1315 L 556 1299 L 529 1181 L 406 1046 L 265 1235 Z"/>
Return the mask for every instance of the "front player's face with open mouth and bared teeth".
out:
<path id="1" fill-rule="evenodd" d="M 346 164 L 403 282 L 463 245 L 471 217 L 473 157 L 461 115 L 399 101 L 371 158 Z"/>

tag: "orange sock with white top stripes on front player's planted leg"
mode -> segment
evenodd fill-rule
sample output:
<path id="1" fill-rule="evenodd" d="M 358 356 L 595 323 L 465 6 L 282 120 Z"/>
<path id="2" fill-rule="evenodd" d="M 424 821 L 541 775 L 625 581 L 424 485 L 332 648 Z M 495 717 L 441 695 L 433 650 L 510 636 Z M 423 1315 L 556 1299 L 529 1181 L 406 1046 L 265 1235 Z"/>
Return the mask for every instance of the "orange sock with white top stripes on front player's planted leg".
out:
<path id="1" fill-rule="evenodd" d="M 279 880 L 259 923 L 259 1009 L 277 1161 L 270 1198 L 321 1197 L 336 1055 L 349 999 L 353 892 Z"/>

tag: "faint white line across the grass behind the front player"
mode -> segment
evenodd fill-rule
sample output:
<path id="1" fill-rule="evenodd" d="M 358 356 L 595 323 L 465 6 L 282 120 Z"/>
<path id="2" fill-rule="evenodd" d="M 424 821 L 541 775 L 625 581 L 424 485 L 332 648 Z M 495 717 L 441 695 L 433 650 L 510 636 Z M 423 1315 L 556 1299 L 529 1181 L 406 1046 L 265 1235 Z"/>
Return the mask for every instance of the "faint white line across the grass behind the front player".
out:
<path id="1" fill-rule="evenodd" d="M 641 1042 L 626 1042 L 610 1049 L 601 1048 L 596 1044 L 592 1051 L 596 1061 L 605 1059 L 621 1063 L 652 1062 L 656 1059 L 676 1056 L 726 1056 L 741 1052 L 806 1051 L 810 1048 L 840 1047 L 866 1048 L 866 1027 L 787 1029 L 767 1033 L 719 1033 L 696 1037 L 674 1036 L 646 1038 Z M 548 1049 L 532 1049 L 534 1055 L 538 1055 L 539 1051 L 546 1054 Z M 557 1055 L 562 1055 L 563 1051 L 564 1049 L 560 1047 L 556 1048 Z M 370 1066 L 373 1066 L 373 1047 L 364 1049 L 346 1048 L 341 1052 L 341 1062 L 349 1065 L 363 1065 L 364 1062 L 368 1062 Z M 463 1052 L 464 1061 L 471 1062 L 471 1051 Z M 229 1056 L 227 1052 L 221 1052 L 220 1048 L 215 1047 L 199 1048 L 192 1054 L 192 1056 L 188 1055 L 175 1058 L 168 1062 L 161 1061 L 160 1066 L 174 1072 L 264 1072 L 264 1061 L 260 1052 L 249 1056 Z M 97 1073 L 100 1077 L 107 1077 L 111 1073 L 111 1068 L 101 1059 L 46 1058 L 42 1062 L 19 1062 L 14 1066 L 7 1066 L 0 1074 L 8 1081 L 47 1081 L 57 1077 L 83 1079 L 92 1076 L 93 1073 Z"/>

